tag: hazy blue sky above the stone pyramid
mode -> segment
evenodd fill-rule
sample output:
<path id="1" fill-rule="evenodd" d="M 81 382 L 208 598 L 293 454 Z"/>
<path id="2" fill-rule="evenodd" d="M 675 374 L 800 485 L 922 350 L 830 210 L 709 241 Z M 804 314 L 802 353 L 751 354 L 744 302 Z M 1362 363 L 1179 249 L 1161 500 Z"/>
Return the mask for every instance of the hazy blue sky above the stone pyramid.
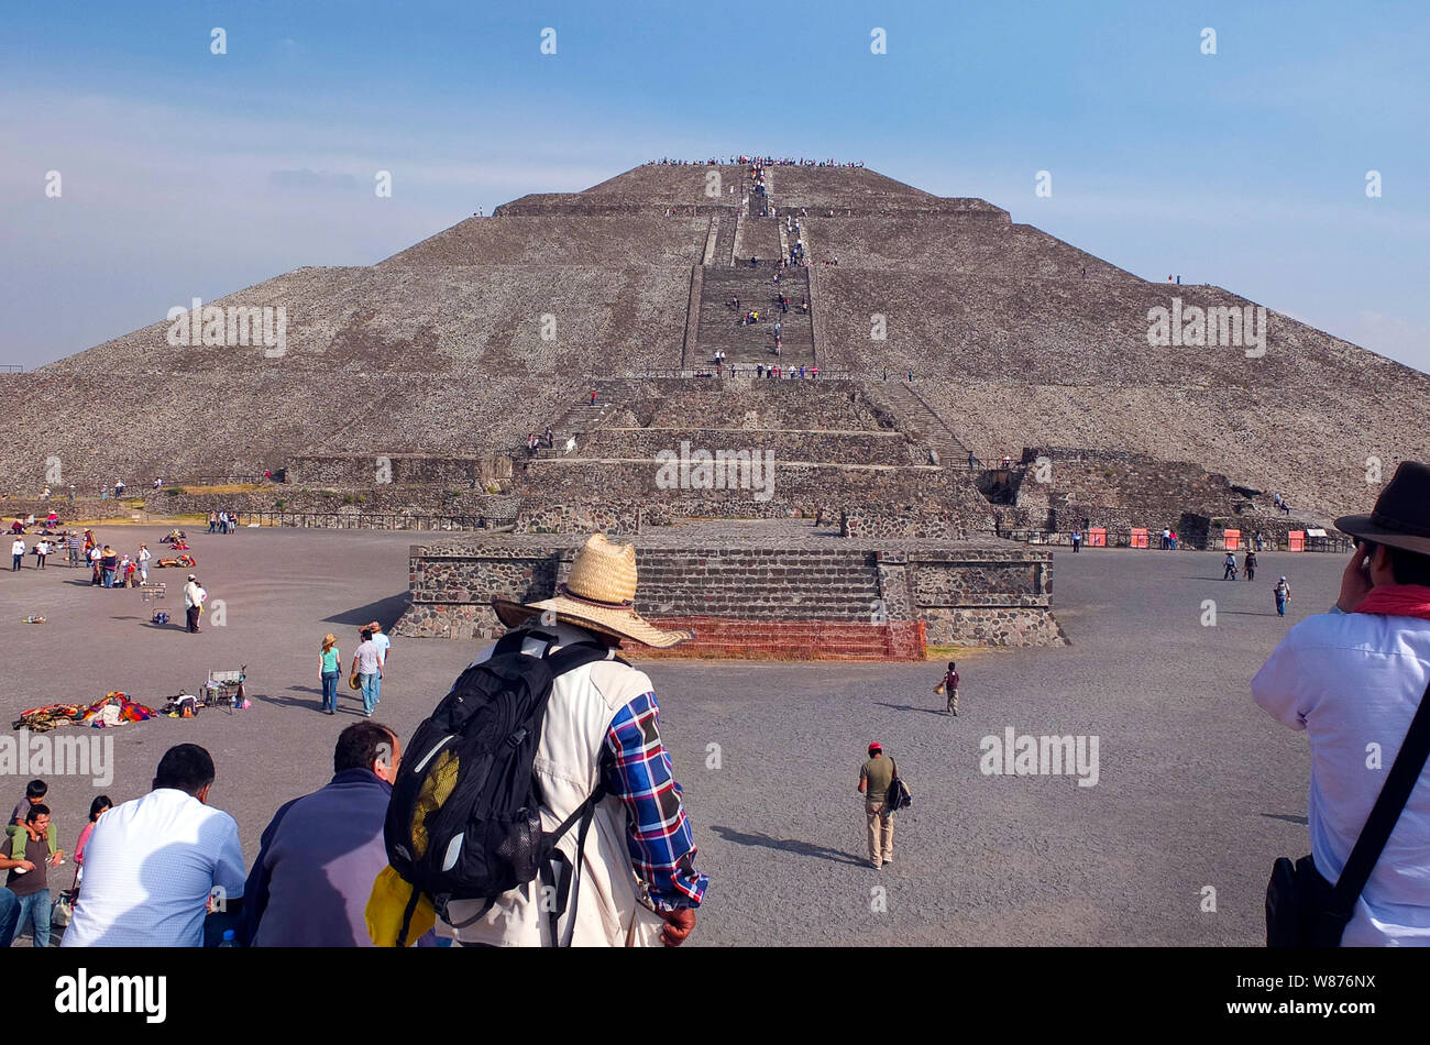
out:
<path id="1" fill-rule="evenodd" d="M 9 4 L 0 363 L 528 192 L 761 150 L 980 196 L 1430 372 L 1426 69 L 1417 3 Z"/>

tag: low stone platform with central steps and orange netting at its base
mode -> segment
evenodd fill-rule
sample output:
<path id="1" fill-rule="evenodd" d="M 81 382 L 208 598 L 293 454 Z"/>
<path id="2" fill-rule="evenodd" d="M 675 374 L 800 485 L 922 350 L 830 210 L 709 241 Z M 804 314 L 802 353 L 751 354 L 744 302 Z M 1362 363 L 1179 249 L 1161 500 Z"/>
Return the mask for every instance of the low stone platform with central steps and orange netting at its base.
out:
<path id="1" fill-rule="evenodd" d="M 490 600 L 549 598 L 583 540 L 503 535 L 413 545 L 410 605 L 396 633 L 493 638 L 503 629 Z M 1052 553 L 1012 542 L 858 540 L 805 520 L 706 523 L 644 532 L 636 566 L 636 609 L 696 632 L 679 648 L 692 656 L 812 659 L 824 649 L 907 659 L 911 626 L 919 656 L 924 645 L 1065 643 L 1052 616 Z"/>

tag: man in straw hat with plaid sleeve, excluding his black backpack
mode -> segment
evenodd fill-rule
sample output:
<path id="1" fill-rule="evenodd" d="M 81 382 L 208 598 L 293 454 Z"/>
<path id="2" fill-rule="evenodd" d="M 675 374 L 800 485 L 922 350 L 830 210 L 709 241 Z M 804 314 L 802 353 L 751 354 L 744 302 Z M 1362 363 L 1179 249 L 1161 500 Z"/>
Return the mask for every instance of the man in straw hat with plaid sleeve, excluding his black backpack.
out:
<path id="1" fill-rule="evenodd" d="M 694 636 L 644 620 L 635 612 L 635 548 L 596 533 L 553 598 L 492 602 L 503 625 L 526 635 L 523 653 L 541 656 L 548 646 L 596 640 L 611 648 L 612 659 L 556 676 L 533 763 L 548 831 L 598 785 L 606 789 L 585 842 L 575 925 L 568 913 L 558 926 L 559 942 L 576 946 L 678 946 L 695 928 L 708 883 L 695 868 L 695 842 L 661 743 L 651 679 L 613 659 L 622 642 L 666 649 Z M 562 839 L 562 848 L 572 849 L 568 856 L 575 855 L 573 835 Z M 503 893 L 483 918 L 459 926 L 482 908 L 482 901 L 450 902 L 450 923 L 439 921 L 438 935 L 492 946 L 552 942 L 539 881 Z"/>

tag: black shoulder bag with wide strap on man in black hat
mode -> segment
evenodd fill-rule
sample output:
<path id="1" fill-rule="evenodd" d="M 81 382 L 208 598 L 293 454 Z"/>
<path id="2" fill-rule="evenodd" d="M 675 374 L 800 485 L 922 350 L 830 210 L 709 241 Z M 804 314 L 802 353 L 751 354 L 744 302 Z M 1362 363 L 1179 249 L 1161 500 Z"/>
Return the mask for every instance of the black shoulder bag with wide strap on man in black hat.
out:
<path id="1" fill-rule="evenodd" d="M 1267 946 L 1340 946 L 1346 923 L 1354 913 L 1356 899 L 1370 879 L 1380 852 L 1390 841 L 1390 832 L 1406 808 L 1410 792 L 1420 779 L 1430 755 L 1430 686 L 1420 698 L 1420 708 L 1400 745 L 1390 775 L 1380 788 L 1376 805 L 1366 818 L 1366 826 L 1350 851 L 1346 868 L 1333 886 L 1310 856 L 1291 863 L 1280 856 L 1271 865 L 1271 881 L 1266 886 L 1266 945 Z"/>

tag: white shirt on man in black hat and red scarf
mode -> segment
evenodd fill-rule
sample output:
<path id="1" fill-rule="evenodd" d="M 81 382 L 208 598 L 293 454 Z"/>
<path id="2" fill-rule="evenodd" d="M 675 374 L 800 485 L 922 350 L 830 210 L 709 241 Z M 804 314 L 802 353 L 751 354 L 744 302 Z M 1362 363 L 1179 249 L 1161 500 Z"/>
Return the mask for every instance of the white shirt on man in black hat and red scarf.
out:
<path id="1" fill-rule="evenodd" d="M 1311 745 L 1316 869 L 1340 878 L 1430 682 L 1430 620 L 1321 613 L 1296 625 L 1251 695 Z M 1370 745 L 1379 745 L 1377 768 Z M 1423 772 L 1341 938 L 1343 946 L 1430 946 L 1430 772 Z"/>

